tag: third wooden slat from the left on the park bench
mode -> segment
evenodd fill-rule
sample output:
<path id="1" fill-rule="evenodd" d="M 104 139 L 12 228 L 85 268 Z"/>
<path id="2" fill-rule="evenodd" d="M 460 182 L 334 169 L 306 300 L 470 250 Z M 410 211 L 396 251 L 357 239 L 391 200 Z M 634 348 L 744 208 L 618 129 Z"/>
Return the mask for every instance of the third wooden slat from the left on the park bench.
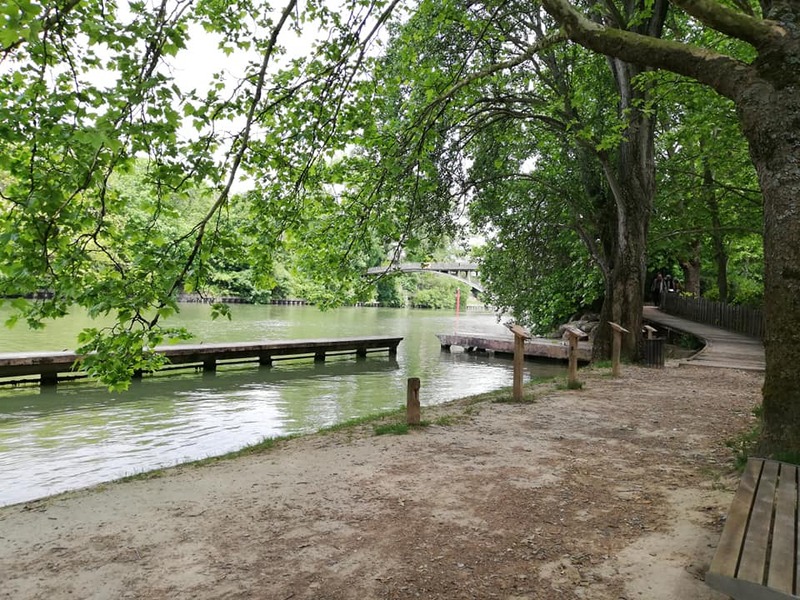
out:
<path id="1" fill-rule="evenodd" d="M 797 467 L 780 464 L 775 496 L 775 523 L 769 560 L 769 587 L 794 593 L 795 532 L 797 508 Z"/>

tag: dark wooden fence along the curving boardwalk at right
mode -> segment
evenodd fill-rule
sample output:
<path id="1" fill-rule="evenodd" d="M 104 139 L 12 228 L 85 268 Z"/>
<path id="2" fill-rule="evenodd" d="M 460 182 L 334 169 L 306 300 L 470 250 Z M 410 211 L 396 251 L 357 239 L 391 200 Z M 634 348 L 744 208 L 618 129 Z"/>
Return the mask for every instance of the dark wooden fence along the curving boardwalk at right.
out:
<path id="1" fill-rule="evenodd" d="M 764 339 L 764 313 L 751 306 L 723 304 L 705 298 L 687 298 L 680 294 L 664 294 L 661 310 L 690 321 Z"/>

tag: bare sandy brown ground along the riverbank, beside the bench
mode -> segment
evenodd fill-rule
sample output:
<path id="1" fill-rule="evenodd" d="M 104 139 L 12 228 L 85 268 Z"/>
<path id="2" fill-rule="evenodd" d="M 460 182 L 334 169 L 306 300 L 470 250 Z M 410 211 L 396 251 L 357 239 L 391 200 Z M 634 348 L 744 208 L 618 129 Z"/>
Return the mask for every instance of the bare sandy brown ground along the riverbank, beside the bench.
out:
<path id="1" fill-rule="evenodd" d="M 533 404 L 423 408 L 408 435 L 0 509 L 0 598 L 719 599 L 702 579 L 738 481 L 725 441 L 762 377 L 582 372 Z"/>

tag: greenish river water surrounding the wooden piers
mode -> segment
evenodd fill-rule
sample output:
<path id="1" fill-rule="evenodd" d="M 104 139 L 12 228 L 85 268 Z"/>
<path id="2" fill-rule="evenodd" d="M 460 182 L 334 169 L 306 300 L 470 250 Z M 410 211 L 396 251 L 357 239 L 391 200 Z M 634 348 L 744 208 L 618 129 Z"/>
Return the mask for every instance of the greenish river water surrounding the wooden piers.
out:
<path id="1" fill-rule="evenodd" d="M 57 388 L 0 386 L 0 505 L 25 502 L 126 475 L 224 454 L 264 438 L 315 431 L 405 403 L 406 380 L 421 379 L 423 406 L 511 384 L 512 364 L 441 352 L 435 333 L 506 335 L 492 314 L 382 308 L 250 306 L 212 321 L 205 305 L 182 307 L 175 324 L 189 343 L 402 336 L 396 359 L 335 357 L 240 366 L 216 373 L 146 377 L 122 393 L 83 381 Z M 0 318 L 5 313 L 0 311 Z M 90 321 L 81 315 L 41 331 L 0 331 L 0 352 L 64 350 Z M 563 373 L 526 363 L 527 377 Z M 424 418 L 424 411 L 423 411 Z"/>

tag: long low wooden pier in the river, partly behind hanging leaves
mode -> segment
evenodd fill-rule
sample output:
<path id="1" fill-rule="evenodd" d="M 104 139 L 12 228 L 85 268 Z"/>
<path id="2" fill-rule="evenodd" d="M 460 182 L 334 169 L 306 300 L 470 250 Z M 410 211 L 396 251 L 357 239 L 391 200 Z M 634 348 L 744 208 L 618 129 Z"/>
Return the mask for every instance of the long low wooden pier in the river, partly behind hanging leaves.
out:
<path id="1" fill-rule="evenodd" d="M 258 362 L 270 366 L 275 360 L 313 358 L 316 362 L 326 357 L 355 354 L 359 358 L 370 352 L 397 354 L 401 337 L 351 337 L 336 339 L 287 340 L 239 342 L 223 344 L 182 344 L 159 346 L 168 363 L 163 369 L 202 368 L 214 371 L 221 364 Z M 59 379 L 85 376 L 74 370 L 81 357 L 74 352 L 23 352 L 0 353 L 0 383 L 12 383 L 23 377 L 38 375 L 42 384 L 53 384 Z"/>

